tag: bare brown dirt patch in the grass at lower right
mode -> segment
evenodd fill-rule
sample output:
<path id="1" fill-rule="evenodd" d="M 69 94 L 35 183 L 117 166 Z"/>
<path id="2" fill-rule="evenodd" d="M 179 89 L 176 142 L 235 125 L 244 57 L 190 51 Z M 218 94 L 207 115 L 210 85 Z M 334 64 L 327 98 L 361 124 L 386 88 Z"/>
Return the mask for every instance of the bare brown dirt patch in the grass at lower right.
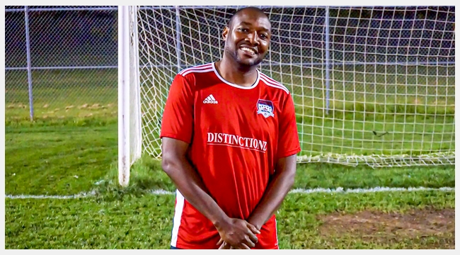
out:
<path id="1" fill-rule="evenodd" d="M 355 214 L 333 213 L 318 220 L 322 236 L 351 236 L 367 242 L 398 242 L 402 239 L 448 237 L 444 247 L 455 246 L 455 210 L 422 209 L 405 213 L 362 211 Z M 445 239 L 445 238 L 444 238 Z M 447 242 L 446 242 L 447 241 Z"/>

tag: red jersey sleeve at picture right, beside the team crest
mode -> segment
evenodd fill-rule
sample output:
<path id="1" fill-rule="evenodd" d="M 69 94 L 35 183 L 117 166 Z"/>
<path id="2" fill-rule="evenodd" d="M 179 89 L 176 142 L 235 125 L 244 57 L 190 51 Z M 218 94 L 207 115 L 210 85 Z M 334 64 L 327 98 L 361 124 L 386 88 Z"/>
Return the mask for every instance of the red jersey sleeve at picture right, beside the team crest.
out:
<path id="1" fill-rule="evenodd" d="M 277 159 L 289 157 L 301 150 L 294 101 L 290 95 L 287 97 L 279 120 Z"/>

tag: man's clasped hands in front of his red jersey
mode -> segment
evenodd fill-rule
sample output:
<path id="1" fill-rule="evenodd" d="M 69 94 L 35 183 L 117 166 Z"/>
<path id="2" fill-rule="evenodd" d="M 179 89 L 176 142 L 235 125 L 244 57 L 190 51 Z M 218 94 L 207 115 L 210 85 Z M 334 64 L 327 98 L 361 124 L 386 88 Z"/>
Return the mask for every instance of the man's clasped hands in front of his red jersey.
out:
<path id="1" fill-rule="evenodd" d="M 258 239 L 255 234 L 260 234 L 260 231 L 246 222 L 246 220 L 230 218 L 222 225 L 216 226 L 221 240 L 217 245 L 225 242 L 226 245 L 234 249 L 251 249 L 255 246 Z"/>

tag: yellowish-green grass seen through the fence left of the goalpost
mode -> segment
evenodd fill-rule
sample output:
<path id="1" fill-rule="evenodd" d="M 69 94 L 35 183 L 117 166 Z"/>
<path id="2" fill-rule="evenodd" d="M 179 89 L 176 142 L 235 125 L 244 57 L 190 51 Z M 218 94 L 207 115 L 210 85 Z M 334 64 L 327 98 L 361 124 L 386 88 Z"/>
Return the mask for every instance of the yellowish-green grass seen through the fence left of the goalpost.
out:
<path id="1" fill-rule="evenodd" d="M 117 70 L 35 70 L 32 72 L 34 115 L 47 118 L 106 118 L 117 112 Z M 6 121 L 29 118 L 25 71 L 5 75 Z"/>

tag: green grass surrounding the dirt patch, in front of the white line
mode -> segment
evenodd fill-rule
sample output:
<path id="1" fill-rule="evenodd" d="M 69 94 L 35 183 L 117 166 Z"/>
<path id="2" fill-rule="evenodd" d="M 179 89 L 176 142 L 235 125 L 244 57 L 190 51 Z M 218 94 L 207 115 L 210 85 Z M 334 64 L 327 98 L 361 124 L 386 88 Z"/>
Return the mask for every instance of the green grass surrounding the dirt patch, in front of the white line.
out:
<path id="1" fill-rule="evenodd" d="M 393 242 L 367 242 L 365 239 L 343 235 L 321 236 L 319 215 L 333 212 L 353 213 L 363 210 L 380 212 L 404 212 L 413 208 L 454 208 L 454 193 L 370 193 L 370 194 L 314 194 L 289 196 L 279 212 L 280 247 L 283 249 L 403 249 L 423 247 L 423 239 L 396 239 Z M 446 233 L 447 236 L 447 233 Z M 442 241 L 446 237 L 435 237 Z M 454 242 L 449 237 L 448 242 Z"/>

